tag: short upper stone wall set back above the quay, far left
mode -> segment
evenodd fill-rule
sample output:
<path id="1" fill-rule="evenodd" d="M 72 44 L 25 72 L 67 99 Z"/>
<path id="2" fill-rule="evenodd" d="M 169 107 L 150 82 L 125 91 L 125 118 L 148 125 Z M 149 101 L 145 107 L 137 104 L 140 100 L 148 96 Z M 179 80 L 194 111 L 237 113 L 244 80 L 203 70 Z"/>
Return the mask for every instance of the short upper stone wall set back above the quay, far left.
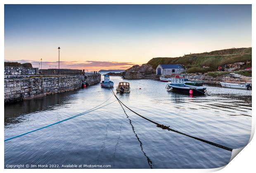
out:
<path id="1" fill-rule="evenodd" d="M 5 66 L 5 75 L 38 75 L 38 68 Z"/>

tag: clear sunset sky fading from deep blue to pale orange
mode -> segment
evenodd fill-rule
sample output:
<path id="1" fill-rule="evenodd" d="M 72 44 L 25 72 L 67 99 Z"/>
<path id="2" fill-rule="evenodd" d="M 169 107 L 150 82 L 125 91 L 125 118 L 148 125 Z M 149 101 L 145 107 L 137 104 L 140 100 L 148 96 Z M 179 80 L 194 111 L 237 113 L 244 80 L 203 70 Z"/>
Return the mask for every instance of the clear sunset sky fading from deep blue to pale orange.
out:
<path id="1" fill-rule="evenodd" d="M 5 5 L 5 61 L 127 69 L 154 57 L 251 47 L 251 5 Z"/>

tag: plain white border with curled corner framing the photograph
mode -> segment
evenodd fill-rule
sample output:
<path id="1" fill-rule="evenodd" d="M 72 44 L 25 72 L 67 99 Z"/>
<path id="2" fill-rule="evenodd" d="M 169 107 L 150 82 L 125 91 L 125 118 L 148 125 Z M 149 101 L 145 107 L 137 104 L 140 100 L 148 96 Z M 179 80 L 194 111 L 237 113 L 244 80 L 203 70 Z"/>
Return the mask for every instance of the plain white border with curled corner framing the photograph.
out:
<path id="1" fill-rule="evenodd" d="M 254 0 L 255 1 L 255 0 Z M 21 2 L 21 0 L 1 0 L 0 3 L 1 3 L 1 6 L 0 6 L 0 37 L 1 37 L 1 42 L 0 42 L 0 55 L 2 57 L 2 61 L 0 61 L 1 63 L 1 67 L 3 68 L 4 67 L 4 4 L 252 4 L 252 47 L 254 45 L 254 38 L 255 38 L 255 34 L 254 34 L 254 30 L 256 29 L 255 27 L 255 10 L 256 10 L 256 2 L 254 2 L 253 0 L 194 0 L 194 1 L 191 1 L 191 0 L 158 0 L 158 1 L 154 1 L 154 0 L 109 0 L 109 1 L 106 1 L 106 0 L 23 0 Z M 254 48 L 252 49 L 252 55 L 253 55 L 253 58 L 255 58 L 254 56 L 255 54 L 255 51 L 254 51 Z M 253 60 L 254 61 L 254 60 Z M 254 63 L 253 63 L 254 64 Z M 2 69 L 3 71 L 3 69 Z M 2 75 L 3 77 L 3 75 Z M 255 78 L 255 72 L 253 71 L 253 81 L 254 81 L 254 78 Z M 2 91 L 2 98 L 4 97 L 4 86 L 3 84 L 0 86 L 1 87 L 1 91 Z M 255 94 L 254 94 L 254 90 L 252 91 L 252 98 L 255 97 Z M 254 107 L 254 102 L 252 102 L 252 107 Z M 4 117 L 3 117 L 3 111 L 4 111 L 4 100 L 1 99 L 1 111 L 2 111 L 2 119 L 1 119 L 1 123 L 2 125 L 4 124 Z M 255 118 L 254 118 L 254 114 L 255 111 L 254 109 L 252 110 L 252 135 L 251 135 L 251 139 L 252 139 L 252 136 L 254 134 L 254 131 L 255 131 Z M 2 128 L 2 131 L 1 131 L 1 141 L 4 141 L 4 128 Z M 250 140 L 251 140 L 250 139 Z M 1 142 L 0 143 L 0 147 L 1 147 L 1 162 L 2 164 L 0 165 L 2 169 L 4 169 L 4 142 Z M 247 172 L 247 173 L 250 173 L 250 172 L 254 172 L 255 171 L 255 154 L 256 154 L 256 150 L 255 150 L 255 147 L 256 146 L 256 142 L 255 142 L 255 139 L 251 140 L 251 142 L 249 143 L 248 146 L 246 146 L 244 148 L 244 150 L 241 152 L 241 154 L 239 154 L 238 157 L 236 157 L 234 160 L 232 160 L 230 162 L 230 164 L 228 164 L 228 166 L 226 166 L 225 169 L 222 169 L 224 168 L 225 166 L 223 166 L 222 168 L 216 168 L 216 169 L 168 169 L 168 170 L 158 170 L 158 169 L 155 169 L 155 170 L 148 170 L 148 171 L 152 171 L 152 172 L 155 172 L 155 171 L 170 171 L 170 172 L 213 172 L 213 171 L 218 171 L 220 169 L 222 169 L 220 172 L 223 172 L 223 173 L 226 173 L 226 172 L 232 172 L 232 173 L 240 173 L 240 172 Z M 238 149 L 235 151 L 237 152 L 239 151 Z M 235 152 L 232 153 L 233 156 L 235 156 Z M 238 154 L 238 153 L 237 153 Z M 16 172 L 16 171 L 19 171 L 19 172 L 34 172 L 35 170 L 33 169 L 26 169 L 26 170 L 19 170 L 19 169 L 4 169 L 4 171 L 6 172 Z M 38 172 L 44 172 L 45 170 L 43 169 L 38 169 L 36 170 Z M 53 171 L 53 170 L 47 170 L 47 171 Z M 54 172 L 69 172 L 71 170 L 69 169 L 58 169 L 58 170 L 54 170 Z M 78 172 L 98 172 L 98 171 L 102 171 L 102 170 L 96 170 L 96 169 L 80 169 L 80 170 L 76 170 Z M 133 171 L 133 172 L 141 172 L 141 171 L 145 171 L 144 169 L 141 170 L 141 169 L 133 169 L 133 170 L 130 170 L 130 169 L 122 169 L 122 170 L 119 170 L 119 169 L 110 169 L 110 170 L 107 170 L 107 169 L 104 169 L 103 170 L 104 172 L 129 172 L 130 171 Z"/>

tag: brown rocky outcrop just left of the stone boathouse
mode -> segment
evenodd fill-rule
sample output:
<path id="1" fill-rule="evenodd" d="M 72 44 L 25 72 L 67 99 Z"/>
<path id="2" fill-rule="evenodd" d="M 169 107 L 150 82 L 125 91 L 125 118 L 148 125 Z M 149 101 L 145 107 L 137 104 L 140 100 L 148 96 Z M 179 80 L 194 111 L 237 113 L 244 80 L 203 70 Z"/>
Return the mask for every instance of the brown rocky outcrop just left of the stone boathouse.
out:
<path id="1" fill-rule="evenodd" d="M 123 72 L 123 78 L 125 79 L 154 79 L 158 78 L 155 75 L 156 70 L 149 64 L 133 65 L 131 68 Z"/>

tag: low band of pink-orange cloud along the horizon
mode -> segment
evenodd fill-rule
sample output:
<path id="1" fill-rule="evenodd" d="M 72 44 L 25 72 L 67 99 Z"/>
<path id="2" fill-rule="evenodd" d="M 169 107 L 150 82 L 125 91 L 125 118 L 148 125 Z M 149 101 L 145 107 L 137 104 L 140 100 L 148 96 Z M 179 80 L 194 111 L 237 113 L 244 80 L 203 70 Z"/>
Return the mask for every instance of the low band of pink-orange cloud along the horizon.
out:
<path id="1" fill-rule="evenodd" d="M 33 67 L 38 67 L 40 61 L 32 60 L 5 60 L 11 62 L 19 63 L 31 63 Z M 58 63 L 60 63 L 60 68 L 71 68 L 71 69 L 85 69 L 85 70 L 100 70 L 100 69 L 127 69 L 135 65 L 132 62 L 116 62 L 116 61 L 43 61 L 42 68 L 58 68 Z M 40 65 L 41 66 L 41 65 Z"/>

